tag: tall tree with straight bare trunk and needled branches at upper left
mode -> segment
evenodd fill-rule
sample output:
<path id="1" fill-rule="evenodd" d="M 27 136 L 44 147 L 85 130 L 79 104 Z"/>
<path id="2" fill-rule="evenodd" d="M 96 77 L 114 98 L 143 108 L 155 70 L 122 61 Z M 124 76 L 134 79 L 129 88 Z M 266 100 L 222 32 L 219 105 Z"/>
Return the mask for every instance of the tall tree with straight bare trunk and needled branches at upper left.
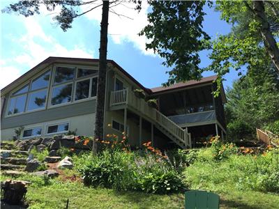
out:
<path id="1" fill-rule="evenodd" d="M 53 11 L 57 6 L 61 6 L 61 11 L 54 17 L 54 20 L 60 25 L 63 31 L 67 31 L 72 27 L 73 20 L 80 17 L 92 10 L 102 6 L 102 20 L 100 26 L 100 49 L 99 49 L 99 71 L 98 71 L 98 87 L 97 87 L 97 104 L 96 104 L 96 123 L 95 123 L 95 138 L 103 138 L 104 130 L 104 112 L 105 112 L 105 80 L 107 70 L 107 27 L 110 6 L 116 6 L 123 1 L 103 1 L 98 3 L 97 0 L 93 1 L 49 1 L 49 0 L 34 0 L 34 1 L 18 1 L 17 3 L 10 4 L 10 6 L 2 10 L 3 13 L 20 13 L 24 17 L 40 14 L 40 6 L 45 6 L 48 11 Z M 141 1 L 131 0 L 137 3 L 136 8 L 140 10 Z M 96 5 L 96 3 L 98 3 Z M 77 8 L 80 6 L 88 5 L 91 8 L 83 13 L 78 13 Z M 115 13 L 114 11 L 112 11 Z M 119 15 L 119 14 L 116 14 Z M 96 144 L 94 145 L 96 150 Z"/>

